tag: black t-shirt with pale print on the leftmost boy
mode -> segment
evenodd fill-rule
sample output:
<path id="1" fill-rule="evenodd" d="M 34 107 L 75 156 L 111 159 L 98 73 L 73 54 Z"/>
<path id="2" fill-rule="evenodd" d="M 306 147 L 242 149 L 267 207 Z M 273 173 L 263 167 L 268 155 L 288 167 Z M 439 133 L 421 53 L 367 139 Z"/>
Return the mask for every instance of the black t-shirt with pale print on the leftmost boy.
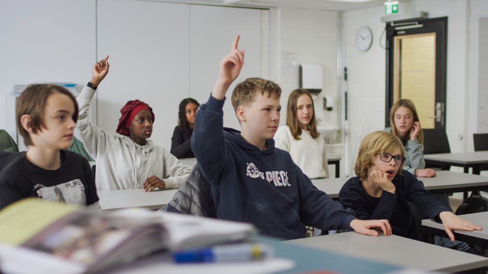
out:
<path id="1" fill-rule="evenodd" d="M 60 150 L 61 166 L 46 170 L 29 162 L 25 152 L 19 153 L 0 172 L 0 209 L 26 197 L 78 205 L 99 200 L 92 169 L 83 156 Z"/>

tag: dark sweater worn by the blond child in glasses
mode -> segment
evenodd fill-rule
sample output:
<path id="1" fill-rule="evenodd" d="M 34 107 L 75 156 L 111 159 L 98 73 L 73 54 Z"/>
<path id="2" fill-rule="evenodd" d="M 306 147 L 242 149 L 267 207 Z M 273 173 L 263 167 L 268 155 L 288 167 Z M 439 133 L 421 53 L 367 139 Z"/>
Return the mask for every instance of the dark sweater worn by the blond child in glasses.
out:
<path id="1" fill-rule="evenodd" d="M 351 208 L 361 220 L 386 219 L 390 222 L 393 234 L 421 241 L 415 217 L 407 201 L 415 204 L 426 218 L 438 219 L 439 213 L 447 209 L 422 187 L 413 174 L 404 174 L 393 179 L 395 194 L 383 191 L 379 198 L 368 195 L 359 178 L 353 177 L 339 192 L 339 201 L 345 208 Z"/>

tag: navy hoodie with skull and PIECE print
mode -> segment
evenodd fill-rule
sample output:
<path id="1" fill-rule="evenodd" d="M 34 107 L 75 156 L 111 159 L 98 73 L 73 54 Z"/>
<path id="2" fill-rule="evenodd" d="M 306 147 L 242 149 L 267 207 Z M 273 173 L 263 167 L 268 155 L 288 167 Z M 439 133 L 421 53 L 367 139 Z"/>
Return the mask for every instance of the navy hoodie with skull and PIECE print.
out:
<path id="1" fill-rule="evenodd" d="M 239 131 L 224 130 L 224 100 L 210 95 L 197 112 L 192 135 L 217 218 L 253 223 L 264 235 L 282 239 L 304 237 L 304 225 L 349 228 L 354 212 L 318 190 L 275 141 L 267 140 L 261 151 Z"/>

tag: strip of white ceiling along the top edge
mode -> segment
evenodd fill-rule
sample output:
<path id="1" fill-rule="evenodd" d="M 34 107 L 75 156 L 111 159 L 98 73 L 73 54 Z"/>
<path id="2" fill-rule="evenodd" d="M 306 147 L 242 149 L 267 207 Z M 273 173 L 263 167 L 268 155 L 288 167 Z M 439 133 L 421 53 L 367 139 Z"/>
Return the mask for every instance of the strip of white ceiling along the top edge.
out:
<path id="1" fill-rule="evenodd" d="M 384 6 L 383 3 L 386 1 L 387 0 L 173 0 L 171 2 L 236 7 L 286 7 L 331 11 L 352 11 Z M 410 0 L 400 0 L 400 2 L 407 1 Z"/>

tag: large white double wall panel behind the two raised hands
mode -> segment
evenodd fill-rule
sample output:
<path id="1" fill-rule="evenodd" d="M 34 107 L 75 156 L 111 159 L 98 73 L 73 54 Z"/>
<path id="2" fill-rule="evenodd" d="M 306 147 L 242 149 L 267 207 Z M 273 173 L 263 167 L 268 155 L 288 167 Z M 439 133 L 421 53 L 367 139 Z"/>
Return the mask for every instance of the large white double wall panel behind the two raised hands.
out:
<path id="1" fill-rule="evenodd" d="M 260 77 L 261 10 L 98 0 L 97 59 L 110 54 L 109 74 L 97 90 L 99 127 L 116 134 L 120 108 L 142 100 L 155 113 L 151 140 L 169 151 L 179 102 L 189 96 L 207 101 L 237 34 L 246 49 L 238 80 Z M 240 129 L 230 94 L 224 125 Z"/>

